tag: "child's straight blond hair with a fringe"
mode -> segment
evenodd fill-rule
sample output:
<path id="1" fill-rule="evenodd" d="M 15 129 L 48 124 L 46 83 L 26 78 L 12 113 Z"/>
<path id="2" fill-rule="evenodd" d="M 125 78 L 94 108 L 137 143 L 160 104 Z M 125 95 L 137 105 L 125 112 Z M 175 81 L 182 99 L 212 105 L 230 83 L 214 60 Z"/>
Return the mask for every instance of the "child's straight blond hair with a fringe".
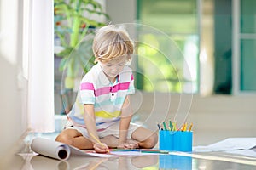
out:
<path id="1" fill-rule="evenodd" d="M 124 29 L 108 25 L 96 31 L 92 50 L 96 61 L 108 62 L 119 57 L 126 57 L 129 61 L 133 54 L 133 44 Z"/>

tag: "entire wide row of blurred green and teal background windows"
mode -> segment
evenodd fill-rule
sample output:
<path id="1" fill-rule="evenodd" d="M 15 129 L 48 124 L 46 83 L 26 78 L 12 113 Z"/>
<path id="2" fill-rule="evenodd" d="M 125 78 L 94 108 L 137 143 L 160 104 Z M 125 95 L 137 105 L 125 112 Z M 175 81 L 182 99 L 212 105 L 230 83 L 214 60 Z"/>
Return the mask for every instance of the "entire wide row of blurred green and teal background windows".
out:
<path id="1" fill-rule="evenodd" d="M 139 42 L 148 43 L 138 46 L 137 88 L 202 94 L 205 81 L 212 94 L 254 93 L 255 17 L 254 0 L 137 0 L 138 23 L 165 32 L 178 47 L 163 34 L 138 30 Z M 205 58 L 211 69 L 201 65 Z"/>

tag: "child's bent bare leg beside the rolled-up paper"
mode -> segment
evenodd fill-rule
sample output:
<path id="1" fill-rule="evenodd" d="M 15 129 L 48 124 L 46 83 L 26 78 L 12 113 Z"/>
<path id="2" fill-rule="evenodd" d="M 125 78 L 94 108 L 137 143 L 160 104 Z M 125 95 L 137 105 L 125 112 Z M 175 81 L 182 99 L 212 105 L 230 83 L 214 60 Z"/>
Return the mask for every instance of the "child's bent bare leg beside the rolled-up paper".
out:
<path id="1" fill-rule="evenodd" d="M 83 149 L 93 149 L 93 145 L 90 139 L 86 139 L 82 133 L 75 129 L 65 129 L 63 130 L 55 139 L 58 142 L 73 145 L 81 150 Z"/>

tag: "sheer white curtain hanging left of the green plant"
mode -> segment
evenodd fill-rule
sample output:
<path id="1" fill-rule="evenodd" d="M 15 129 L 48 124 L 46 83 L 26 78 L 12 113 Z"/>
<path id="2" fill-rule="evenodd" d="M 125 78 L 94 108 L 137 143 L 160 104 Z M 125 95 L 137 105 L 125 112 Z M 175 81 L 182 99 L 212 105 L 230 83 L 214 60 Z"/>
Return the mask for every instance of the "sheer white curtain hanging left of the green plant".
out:
<path id="1" fill-rule="evenodd" d="M 28 18 L 28 127 L 55 130 L 53 1 L 31 0 Z"/>

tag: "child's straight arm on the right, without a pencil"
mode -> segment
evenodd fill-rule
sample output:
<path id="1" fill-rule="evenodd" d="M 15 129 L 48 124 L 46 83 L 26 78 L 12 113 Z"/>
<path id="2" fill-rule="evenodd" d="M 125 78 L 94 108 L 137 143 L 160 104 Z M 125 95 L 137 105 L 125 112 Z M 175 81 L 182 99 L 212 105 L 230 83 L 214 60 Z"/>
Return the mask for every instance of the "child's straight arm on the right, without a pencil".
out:
<path id="1" fill-rule="evenodd" d="M 131 122 L 132 109 L 130 96 L 125 98 L 124 105 L 122 107 L 121 119 L 119 123 L 119 145 L 127 143 L 127 131 Z"/>

